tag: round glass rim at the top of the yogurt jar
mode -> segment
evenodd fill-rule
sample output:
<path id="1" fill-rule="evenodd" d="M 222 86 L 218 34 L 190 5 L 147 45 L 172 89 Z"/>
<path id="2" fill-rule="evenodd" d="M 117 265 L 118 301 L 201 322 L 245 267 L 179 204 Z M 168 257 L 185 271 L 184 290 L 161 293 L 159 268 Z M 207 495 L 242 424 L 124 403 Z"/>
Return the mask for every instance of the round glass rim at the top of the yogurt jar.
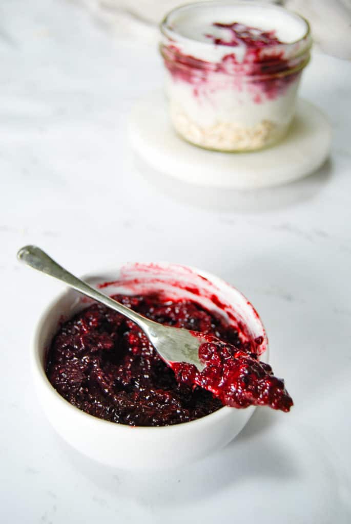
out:
<path id="1" fill-rule="evenodd" d="M 182 11 L 183 9 L 186 10 L 188 8 L 196 8 L 198 6 L 206 6 L 208 7 L 209 5 L 220 5 L 220 4 L 224 4 L 224 5 L 230 5 L 230 6 L 233 6 L 235 7 L 236 5 L 245 5 L 245 6 L 248 6 L 250 5 L 253 9 L 256 9 L 257 7 L 263 7 L 263 8 L 268 8 L 268 9 L 276 9 L 276 10 L 280 10 L 281 12 L 285 12 L 285 13 L 288 13 L 290 15 L 293 15 L 294 17 L 296 18 L 299 18 L 300 20 L 302 20 L 306 26 L 306 31 L 304 32 L 303 36 L 298 38 L 297 40 L 293 40 L 291 42 L 281 42 L 280 44 L 277 44 L 277 43 L 271 43 L 271 44 L 268 44 L 267 46 L 265 46 L 266 49 L 269 49 L 269 48 L 279 48 L 279 47 L 286 47 L 286 46 L 293 46 L 295 45 L 296 43 L 299 43 L 299 42 L 302 42 L 303 40 L 307 40 L 310 36 L 311 36 L 311 26 L 310 26 L 310 23 L 309 21 L 303 17 L 302 15 L 300 15 L 299 13 L 296 13 L 290 9 L 286 9 L 285 7 L 282 7 L 280 5 L 276 5 L 276 4 L 267 4 L 267 3 L 263 3 L 263 2 L 255 2 L 255 3 L 252 3 L 252 4 L 248 4 L 248 2 L 242 2 L 242 1 L 238 1 L 238 2 L 228 2 L 228 0 L 219 0 L 219 1 L 211 1 L 211 2 L 192 2 L 192 3 L 187 3 L 187 4 L 183 4 L 183 5 L 180 5 L 178 7 L 175 7 L 174 9 L 171 9 L 165 16 L 164 18 L 162 19 L 161 23 L 159 24 L 159 30 L 161 31 L 161 34 L 164 35 L 165 37 L 173 40 L 174 37 L 176 37 L 176 39 L 178 41 L 183 41 L 183 42 L 196 42 L 197 45 L 201 46 L 201 47 L 210 47 L 210 46 L 213 46 L 213 43 L 210 42 L 210 41 L 201 41 L 201 40 L 196 40 L 195 38 L 189 38 L 185 35 L 182 35 L 180 34 L 177 30 L 175 29 L 172 29 L 171 27 L 168 27 L 168 23 L 169 23 L 169 18 L 171 18 L 175 13 L 177 13 L 178 11 Z M 309 47 L 311 47 L 312 45 L 312 42 L 310 43 Z M 227 44 L 221 44 L 221 43 L 218 43 L 216 44 L 216 47 L 218 47 L 219 49 L 221 48 L 227 48 L 227 49 L 231 49 L 231 48 L 234 48 L 235 46 L 228 46 Z"/>

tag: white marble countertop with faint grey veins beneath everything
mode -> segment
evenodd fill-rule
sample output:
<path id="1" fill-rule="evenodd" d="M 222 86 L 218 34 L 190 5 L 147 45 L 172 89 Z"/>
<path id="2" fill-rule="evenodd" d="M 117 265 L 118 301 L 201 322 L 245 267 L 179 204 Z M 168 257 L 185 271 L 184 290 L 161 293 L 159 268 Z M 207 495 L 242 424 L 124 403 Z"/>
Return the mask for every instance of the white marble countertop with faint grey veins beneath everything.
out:
<path id="1" fill-rule="evenodd" d="M 284 190 L 244 196 L 244 211 L 214 210 L 159 191 L 130 160 L 127 115 L 162 79 L 155 49 L 111 38 L 59 0 L 3 0 L 0 20 L 0 520 L 349 522 L 351 63 L 315 56 L 303 81 L 331 119 L 331 160 Z M 226 449 L 167 475 L 78 455 L 30 377 L 31 333 L 61 286 L 17 264 L 29 243 L 78 274 L 161 259 L 232 282 L 262 316 L 292 412 L 257 410 Z"/>

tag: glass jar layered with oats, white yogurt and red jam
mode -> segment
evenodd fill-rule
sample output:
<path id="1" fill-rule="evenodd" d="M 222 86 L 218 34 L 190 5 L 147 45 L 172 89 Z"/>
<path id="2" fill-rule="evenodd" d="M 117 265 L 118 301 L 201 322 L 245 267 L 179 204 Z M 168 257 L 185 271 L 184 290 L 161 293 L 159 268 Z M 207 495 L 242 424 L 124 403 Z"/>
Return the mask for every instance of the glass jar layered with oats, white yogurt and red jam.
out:
<path id="1" fill-rule="evenodd" d="M 310 59 L 304 18 L 259 2 L 199 2 L 172 10 L 161 32 L 169 112 L 181 137 L 248 151 L 286 134 Z"/>

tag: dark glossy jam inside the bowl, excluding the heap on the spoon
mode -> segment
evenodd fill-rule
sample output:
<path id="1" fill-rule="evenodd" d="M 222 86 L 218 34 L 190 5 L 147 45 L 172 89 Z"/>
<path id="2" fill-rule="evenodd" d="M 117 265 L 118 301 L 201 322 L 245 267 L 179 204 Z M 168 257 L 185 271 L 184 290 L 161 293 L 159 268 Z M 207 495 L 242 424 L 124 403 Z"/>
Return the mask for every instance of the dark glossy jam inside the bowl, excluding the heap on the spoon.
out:
<path id="1" fill-rule="evenodd" d="M 167 303 L 156 296 L 115 299 L 157 322 L 240 344 L 236 331 L 193 302 Z M 61 326 L 48 353 L 47 375 L 74 406 L 122 424 L 177 424 L 222 407 L 210 392 L 178 383 L 143 332 L 101 304 Z"/>

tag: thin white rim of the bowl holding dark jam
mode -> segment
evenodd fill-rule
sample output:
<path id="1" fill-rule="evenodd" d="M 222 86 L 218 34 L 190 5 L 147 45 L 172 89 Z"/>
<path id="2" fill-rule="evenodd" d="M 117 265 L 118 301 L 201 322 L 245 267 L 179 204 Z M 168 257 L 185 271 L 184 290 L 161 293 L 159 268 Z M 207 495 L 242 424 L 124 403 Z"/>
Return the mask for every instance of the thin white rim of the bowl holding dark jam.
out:
<path id="1" fill-rule="evenodd" d="M 159 261 L 142 262 L 142 263 L 140 263 L 140 262 L 137 262 L 137 263 L 136 262 L 127 262 L 127 263 L 124 263 L 124 264 L 119 264 L 117 266 L 117 268 L 113 268 L 113 269 L 105 268 L 103 270 L 96 270 L 96 271 L 93 271 L 93 272 L 89 272 L 88 274 L 84 274 L 80 278 L 82 280 L 87 280 L 88 281 L 89 279 L 95 279 L 97 277 L 103 276 L 104 274 L 106 274 L 106 275 L 107 274 L 113 274 L 113 272 L 120 271 L 123 267 L 129 266 L 129 265 L 132 265 L 132 264 L 143 264 L 143 265 L 155 264 L 157 266 L 167 265 L 167 266 L 184 267 L 184 268 L 187 268 L 187 269 L 190 269 L 190 270 L 194 271 L 197 275 L 199 275 L 201 277 L 205 277 L 210 282 L 212 282 L 212 279 L 218 279 L 222 283 L 224 283 L 226 286 L 228 286 L 228 287 L 234 289 L 235 291 L 237 291 L 241 295 L 241 297 L 243 297 L 246 300 L 246 303 L 247 303 L 249 309 L 251 309 L 253 315 L 256 317 L 256 319 L 258 320 L 258 322 L 259 322 L 259 324 L 261 326 L 263 341 L 265 343 L 264 344 L 265 345 L 265 351 L 263 353 L 263 355 L 265 357 L 264 358 L 264 362 L 268 363 L 268 361 L 269 361 L 269 353 L 270 353 L 270 351 L 269 351 L 269 341 L 268 341 L 268 337 L 267 337 L 267 332 L 266 332 L 266 330 L 264 328 L 263 322 L 262 322 L 261 317 L 258 314 L 257 310 L 253 307 L 253 305 L 248 300 L 248 298 L 241 291 L 239 291 L 235 286 L 233 286 L 232 284 L 230 284 L 226 280 L 222 279 L 221 277 L 218 277 L 218 276 L 212 274 L 209 271 L 202 270 L 202 269 L 199 269 L 199 268 L 194 267 L 194 266 L 188 266 L 187 264 L 169 263 L 167 261 L 159 260 Z M 177 432 L 177 431 L 184 431 L 185 427 L 188 427 L 189 429 L 190 428 L 195 428 L 195 424 L 197 424 L 197 426 L 199 427 L 201 425 L 205 426 L 207 423 L 217 423 L 222 418 L 225 418 L 229 414 L 229 412 L 232 413 L 232 410 L 236 409 L 236 408 L 230 408 L 228 406 L 223 406 L 223 407 L 219 408 L 218 410 L 205 415 L 204 417 L 200 417 L 200 418 L 195 419 L 195 420 L 189 420 L 187 422 L 180 422 L 178 424 L 170 424 L 170 425 L 164 425 L 164 426 L 132 426 L 132 425 L 128 425 L 128 424 L 120 424 L 118 422 L 112 422 L 110 420 L 105 420 L 105 419 L 101 419 L 99 417 L 95 417 L 94 415 L 92 415 L 90 413 L 87 413 L 86 411 L 81 410 L 77 406 L 73 406 L 68 400 L 66 400 L 65 398 L 63 398 L 59 394 L 59 392 L 54 388 L 54 386 L 52 386 L 52 384 L 50 383 L 50 381 L 49 381 L 49 379 L 48 379 L 48 377 L 47 377 L 47 375 L 45 373 L 45 368 L 44 368 L 44 366 L 40 362 L 40 357 L 39 357 L 39 354 L 40 354 L 39 337 L 40 337 L 40 334 L 41 334 L 42 326 L 44 325 L 44 323 L 45 323 L 46 319 L 48 318 L 48 316 L 50 314 L 52 314 L 52 310 L 57 306 L 57 303 L 61 299 L 63 299 L 63 297 L 65 297 L 69 291 L 71 291 L 71 288 L 66 287 L 63 291 L 61 291 L 58 295 L 56 295 L 53 299 L 51 299 L 50 302 L 46 305 L 44 310 L 38 316 L 38 319 L 36 321 L 33 334 L 31 336 L 31 343 L 30 343 L 30 361 L 31 361 L 32 375 L 34 376 L 35 379 L 36 379 L 36 377 L 38 377 L 38 379 L 41 381 L 42 386 L 44 386 L 46 388 L 46 391 L 48 392 L 48 395 L 50 395 L 51 398 L 55 402 L 60 402 L 63 409 L 65 409 L 64 407 L 66 407 L 66 409 L 70 410 L 72 413 L 73 412 L 76 413 L 77 417 L 80 417 L 82 421 L 86 420 L 87 423 L 89 423 L 89 421 L 90 421 L 91 424 L 99 424 L 101 428 L 102 428 L 102 425 L 105 425 L 105 428 L 108 428 L 108 427 L 116 428 L 116 429 L 111 429 L 111 431 L 137 431 L 138 430 L 139 432 L 143 432 L 143 433 L 147 433 L 147 432 L 150 433 L 151 431 L 155 432 L 157 430 L 158 431 L 162 430 L 164 432 L 165 431 Z M 250 409 L 250 408 L 256 409 L 256 407 L 257 406 L 248 406 L 247 408 L 243 408 L 243 409 L 245 409 L 245 410 Z"/>

